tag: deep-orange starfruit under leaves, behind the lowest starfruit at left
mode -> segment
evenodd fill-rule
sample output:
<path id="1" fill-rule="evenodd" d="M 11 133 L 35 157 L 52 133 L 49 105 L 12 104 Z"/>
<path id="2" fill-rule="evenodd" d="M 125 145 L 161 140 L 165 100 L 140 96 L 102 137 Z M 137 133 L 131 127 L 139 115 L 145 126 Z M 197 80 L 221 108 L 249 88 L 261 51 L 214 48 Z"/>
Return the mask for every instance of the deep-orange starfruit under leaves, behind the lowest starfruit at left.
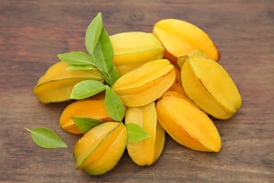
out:
<path id="1" fill-rule="evenodd" d="M 71 103 L 65 108 L 60 117 L 59 123 L 63 130 L 72 134 L 84 134 L 84 132 L 77 128 L 71 117 L 94 118 L 105 122 L 115 121 L 107 114 L 103 94 Z"/>

